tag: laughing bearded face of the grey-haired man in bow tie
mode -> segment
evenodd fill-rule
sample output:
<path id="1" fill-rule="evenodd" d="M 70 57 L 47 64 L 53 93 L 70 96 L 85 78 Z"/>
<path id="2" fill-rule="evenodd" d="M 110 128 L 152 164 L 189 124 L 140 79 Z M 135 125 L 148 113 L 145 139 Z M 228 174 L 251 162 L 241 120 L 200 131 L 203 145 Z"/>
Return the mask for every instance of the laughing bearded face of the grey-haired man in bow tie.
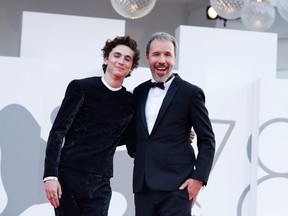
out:
<path id="1" fill-rule="evenodd" d="M 173 43 L 170 40 L 152 41 L 146 61 L 153 78 L 157 82 L 165 82 L 176 62 Z"/>

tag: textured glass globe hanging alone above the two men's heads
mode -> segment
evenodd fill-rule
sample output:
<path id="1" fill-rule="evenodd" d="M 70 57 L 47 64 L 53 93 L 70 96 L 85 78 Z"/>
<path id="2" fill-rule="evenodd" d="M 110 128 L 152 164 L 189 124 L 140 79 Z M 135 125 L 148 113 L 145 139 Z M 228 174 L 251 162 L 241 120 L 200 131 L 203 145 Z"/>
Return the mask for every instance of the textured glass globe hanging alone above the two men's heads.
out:
<path id="1" fill-rule="evenodd" d="M 157 0 L 110 0 L 114 10 L 129 19 L 144 17 L 154 8 Z"/>

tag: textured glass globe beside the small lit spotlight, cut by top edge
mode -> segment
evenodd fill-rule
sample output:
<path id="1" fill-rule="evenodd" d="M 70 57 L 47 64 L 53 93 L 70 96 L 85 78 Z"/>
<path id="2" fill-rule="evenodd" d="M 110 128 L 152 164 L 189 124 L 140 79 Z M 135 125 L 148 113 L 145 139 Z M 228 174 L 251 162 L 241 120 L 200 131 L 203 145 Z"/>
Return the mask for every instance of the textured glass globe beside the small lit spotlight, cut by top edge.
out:
<path id="1" fill-rule="evenodd" d="M 225 19 L 237 19 L 245 0 L 210 0 L 211 6 L 217 14 Z"/>

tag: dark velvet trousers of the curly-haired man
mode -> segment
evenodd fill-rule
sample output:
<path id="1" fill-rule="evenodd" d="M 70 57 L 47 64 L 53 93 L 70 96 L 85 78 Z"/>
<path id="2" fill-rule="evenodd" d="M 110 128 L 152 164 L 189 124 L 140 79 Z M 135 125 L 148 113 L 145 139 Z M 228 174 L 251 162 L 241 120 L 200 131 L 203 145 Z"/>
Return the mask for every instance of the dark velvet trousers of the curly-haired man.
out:
<path id="1" fill-rule="evenodd" d="M 62 188 L 56 216 L 107 216 L 111 200 L 110 178 L 70 168 L 59 169 Z"/>

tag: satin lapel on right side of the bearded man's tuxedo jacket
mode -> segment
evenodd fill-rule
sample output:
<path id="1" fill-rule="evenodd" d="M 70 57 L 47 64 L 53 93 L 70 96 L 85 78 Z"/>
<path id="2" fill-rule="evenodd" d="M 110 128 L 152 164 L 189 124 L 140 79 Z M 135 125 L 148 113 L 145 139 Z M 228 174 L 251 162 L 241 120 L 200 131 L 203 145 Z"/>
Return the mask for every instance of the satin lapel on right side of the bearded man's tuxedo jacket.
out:
<path id="1" fill-rule="evenodd" d="M 160 120 L 163 118 L 164 113 L 166 112 L 169 104 L 171 103 L 173 97 L 175 96 L 176 92 L 178 91 L 179 87 L 180 87 L 180 82 L 181 79 L 179 76 L 176 76 L 173 80 L 173 82 L 171 83 L 171 86 L 163 100 L 163 103 L 160 107 L 156 122 L 154 124 L 153 130 L 151 132 L 151 134 L 153 133 L 154 129 L 158 126 Z"/>

